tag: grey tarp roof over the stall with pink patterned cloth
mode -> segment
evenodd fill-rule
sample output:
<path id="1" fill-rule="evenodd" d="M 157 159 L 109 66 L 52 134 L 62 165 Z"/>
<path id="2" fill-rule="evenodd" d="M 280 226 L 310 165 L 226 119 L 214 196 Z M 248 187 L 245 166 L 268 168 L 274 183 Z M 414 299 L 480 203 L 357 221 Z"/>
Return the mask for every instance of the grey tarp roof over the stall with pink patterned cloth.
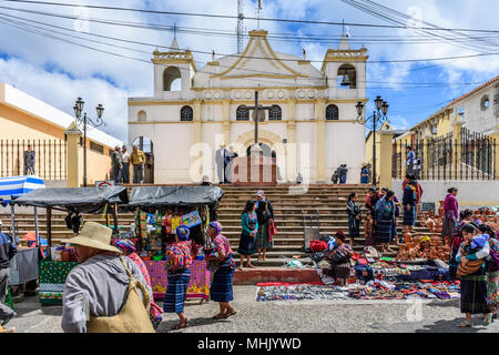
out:
<path id="1" fill-rule="evenodd" d="M 211 205 L 224 191 L 218 186 L 133 186 L 130 206 Z"/>

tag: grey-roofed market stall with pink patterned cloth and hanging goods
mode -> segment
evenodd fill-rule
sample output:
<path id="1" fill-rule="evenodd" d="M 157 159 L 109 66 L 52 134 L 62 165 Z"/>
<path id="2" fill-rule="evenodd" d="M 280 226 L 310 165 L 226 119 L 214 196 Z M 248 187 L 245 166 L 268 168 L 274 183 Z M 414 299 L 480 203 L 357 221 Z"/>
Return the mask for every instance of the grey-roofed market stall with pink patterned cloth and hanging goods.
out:
<path id="1" fill-rule="evenodd" d="M 217 186 L 132 187 L 129 206 L 135 209 L 133 235 L 139 254 L 151 275 L 155 298 L 163 298 L 167 286 L 164 252 L 175 239 L 179 225 L 187 225 L 191 239 L 203 245 L 204 230 L 216 215 L 224 192 Z M 208 300 L 210 272 L 200 251 L 191 266 L 187 298 Z"/>

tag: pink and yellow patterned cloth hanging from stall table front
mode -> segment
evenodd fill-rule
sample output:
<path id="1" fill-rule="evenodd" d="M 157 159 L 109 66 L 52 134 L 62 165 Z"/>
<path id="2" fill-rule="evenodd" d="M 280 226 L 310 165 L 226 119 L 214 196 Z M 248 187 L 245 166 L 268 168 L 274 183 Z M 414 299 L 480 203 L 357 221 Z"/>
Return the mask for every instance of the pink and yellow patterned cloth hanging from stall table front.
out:
<path id="1" fill-rule="evenodd" d="M 154 298 L 163 300 L 169 278 L 164 267 L 165 261 L 144 261 L 151 276 L 151 286 Z M 186 298 L 210 298 L 210 272 L 204 260 L 194 260 L 191 266 L 191 281 L 189 282 Z"/>

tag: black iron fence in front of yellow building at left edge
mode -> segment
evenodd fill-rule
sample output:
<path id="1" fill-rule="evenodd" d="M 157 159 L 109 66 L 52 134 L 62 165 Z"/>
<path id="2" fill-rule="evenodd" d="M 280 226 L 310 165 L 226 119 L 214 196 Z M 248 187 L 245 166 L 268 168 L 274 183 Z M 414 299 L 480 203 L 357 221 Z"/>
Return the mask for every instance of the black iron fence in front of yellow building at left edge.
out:
<path id="1" fill-rule="evenodd" d="M 24 154 L 29 144 L 34 152 L 31 163 L 32 154 Z M 63 140 L 0 140 L 0 178 L 32 174 L 44 180 L 65 180 L 67 156 Z"/>

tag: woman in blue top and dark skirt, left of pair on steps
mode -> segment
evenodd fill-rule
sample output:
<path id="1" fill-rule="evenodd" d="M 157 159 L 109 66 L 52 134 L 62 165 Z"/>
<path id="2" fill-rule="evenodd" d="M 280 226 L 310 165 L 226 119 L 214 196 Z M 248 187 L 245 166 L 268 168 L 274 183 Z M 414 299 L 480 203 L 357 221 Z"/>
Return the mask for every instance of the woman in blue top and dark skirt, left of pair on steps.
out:
<path id="1" fill-rule="evenodd" d="M 243 261 L 246 258 L 246 266 L 255 268 L 252 264 L 252 254 L 255 250 L 256 233 L 258 231 L 258 217 L 255 213 L 256 203 L 253 200 L 246 202 L 243 213 L 241 214 L 241 240 L 237 253 L 241 255 L 240 270 L 243 270 Z"/>

